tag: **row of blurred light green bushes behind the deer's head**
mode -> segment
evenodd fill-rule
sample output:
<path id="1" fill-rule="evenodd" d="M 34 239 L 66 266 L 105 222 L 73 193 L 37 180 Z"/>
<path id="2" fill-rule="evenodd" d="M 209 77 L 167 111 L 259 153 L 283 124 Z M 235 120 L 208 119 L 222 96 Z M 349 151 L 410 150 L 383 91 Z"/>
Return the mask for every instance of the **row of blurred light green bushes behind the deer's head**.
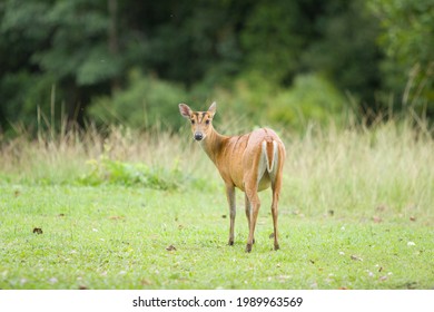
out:
<path id="1" fill-rule="evenodd" d="M 199 87 L 187 91 L 134 71 L 125 90 L 97 99 L 89 114 L 106 124 L 121 123 L 132 128 L 161 124 L 166 129 L 178 129 L 185 120 L 179 116 L 177 104 L 186 101 L 194 109 L 203 110 L 216 100 L 224 107 L 225 120 L 229 124 L 248 118 L 249 126 L 279 123 L 300 128 L 309 120 L 326 124 L 331 118 L 339 119 L 345 105 L 345 97 L 318 74 L 297 76 L 290 88 L 277 87 L 256 71 L 239 76 L 225 88 L 205 86 L 198 91 Z"/>

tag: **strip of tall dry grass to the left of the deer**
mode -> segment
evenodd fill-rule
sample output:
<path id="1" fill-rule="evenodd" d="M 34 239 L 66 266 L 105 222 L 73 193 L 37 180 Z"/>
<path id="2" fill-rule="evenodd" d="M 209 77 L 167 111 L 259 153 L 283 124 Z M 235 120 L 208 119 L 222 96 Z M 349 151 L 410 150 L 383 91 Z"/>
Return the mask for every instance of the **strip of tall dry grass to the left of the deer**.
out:
<path id="1" fill-rule="evenodd" d="M 180 135 L 124 127 L 103 133 L 90 127 L 58 135 L 40 133 L 37 138 L 26 131 L 9 140 L 0 137 L 0 177 L 11 183 L 71 183 L 91 169 L 89 160 L 101 157 L 149 167 L 177 167 L 186 173 L 198 170 L 193 164 L 205 163 L 193 140 Z"/>

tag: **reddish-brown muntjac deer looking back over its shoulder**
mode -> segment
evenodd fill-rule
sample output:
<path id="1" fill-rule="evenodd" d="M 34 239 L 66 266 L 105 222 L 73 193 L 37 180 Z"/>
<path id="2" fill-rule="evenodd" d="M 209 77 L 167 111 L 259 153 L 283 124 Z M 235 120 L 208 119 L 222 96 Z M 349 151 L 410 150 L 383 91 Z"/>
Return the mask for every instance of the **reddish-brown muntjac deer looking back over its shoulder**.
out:
<path id="1" fill-rule="evenodd" d="M 179 104 L 183 117 L 191 123 L 193 137 L 216 165 L 226 185 L 230 209 L 229 245 L 234 244 L 236 215 L 235 187 L 245 192 L 248 238 L 246 252 L 251 251 L 260 201 L 258 192 L 272 186 L 272 215 L 274 225 L 274 248 L 279 248 L 277 233 L 277 204 L 282 188 L 285 146 L 276 133 L 268 128 L 254 130 L 241 136 L 223 136 L 213 127 L 217 105 L 213 103 L 207 111 L 193 111 Z"/>

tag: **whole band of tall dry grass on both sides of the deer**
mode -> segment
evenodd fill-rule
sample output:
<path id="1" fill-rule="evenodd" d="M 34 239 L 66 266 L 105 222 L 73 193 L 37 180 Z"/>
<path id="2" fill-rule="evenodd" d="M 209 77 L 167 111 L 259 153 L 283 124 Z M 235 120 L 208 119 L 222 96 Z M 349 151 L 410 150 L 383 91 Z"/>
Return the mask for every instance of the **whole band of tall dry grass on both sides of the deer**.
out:
<path id="1" fill-rule="evenodd" d="M 230 125 L 216 128 L 235 134 Z M 8 184 L 73 183 L 89 172 L 88 160 L 105 155 L 150 167 L 177 167 L 186 175 L 221 184 L 187 126 L 179 134 L 121 127 L 106 133 L 90 127 L 85 133 L 56 136 L 47 131 L 36 139 L 22 134 L 3 140 L 0 177 Z M 377 216 L 379 221 L 420 217 L 434 223 L 434 140 L 425 123 L 415 125 L 407 118 L 371 127 L 310 125 L 304 134 L 280 133 L 287 148 L 283 211 L 313 216 L 357 215 L 361 220 Z"/>

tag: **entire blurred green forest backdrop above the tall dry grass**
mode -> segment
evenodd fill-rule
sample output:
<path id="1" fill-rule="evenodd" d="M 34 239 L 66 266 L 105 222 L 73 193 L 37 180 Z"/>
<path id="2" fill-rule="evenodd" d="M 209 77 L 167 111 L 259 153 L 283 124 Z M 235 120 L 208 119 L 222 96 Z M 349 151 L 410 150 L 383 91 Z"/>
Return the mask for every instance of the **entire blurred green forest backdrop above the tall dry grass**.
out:
<path id="1" fill-rule="evenodd" d="M 349 108 L 433 117 L 433 10 L 432 0 L 4 0 L 0 128 L 65 114 L 177 129 L 178 103 L 210 100 L 293 127 Z"/>

